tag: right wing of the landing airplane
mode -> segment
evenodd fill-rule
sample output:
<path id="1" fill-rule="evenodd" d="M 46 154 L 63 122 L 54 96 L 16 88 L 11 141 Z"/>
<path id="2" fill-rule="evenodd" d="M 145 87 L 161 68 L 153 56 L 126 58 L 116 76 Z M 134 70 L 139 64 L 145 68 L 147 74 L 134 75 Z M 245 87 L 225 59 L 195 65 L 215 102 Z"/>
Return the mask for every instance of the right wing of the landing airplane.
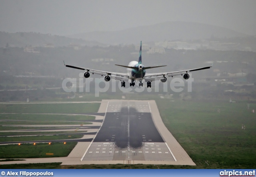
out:
<path id="1" fill-rule="evenodd" d="M 202 70 L 202 69 L 209 69 L 212 66 L 208 66 L 208 67 L 202 67 L 202 68 L 196 68 L 196 69 L 187 69 L 187 70 L 183 70 L 183 71 L 174 71 L 174 72 L 167 72 L 167 73 L 152 73 L 152 74 L 146 74 L 144 76 L 144 79 L 146 82 L 148 81 L 154 81 L 154 80 L 160 80 L 160 79 L 164 79 L 164 77 L 167 75 L 168 77 L 173 77 L 173 76 L 177 76 L 177 75 L 183 75 L 186 74 L 188 71 L 198 71 L 198 70 Z"/>

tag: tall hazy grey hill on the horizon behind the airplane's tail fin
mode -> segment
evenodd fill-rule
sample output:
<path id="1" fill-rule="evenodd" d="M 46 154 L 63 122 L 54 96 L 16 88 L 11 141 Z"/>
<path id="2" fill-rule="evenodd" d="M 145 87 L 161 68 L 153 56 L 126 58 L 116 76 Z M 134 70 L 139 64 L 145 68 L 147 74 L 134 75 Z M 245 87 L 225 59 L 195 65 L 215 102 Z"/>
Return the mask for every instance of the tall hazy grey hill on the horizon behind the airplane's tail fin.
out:
<path id="1" fill-rule="evenodd" d="M 138 44 L 140 40 L 144 42 L 164 41 L 177 39 L 207 39 L 210 37 L 230 38 L 245 37 L 245 34 L 234 30 L 200 24 L 194 22 L 164 22 L 150 26 L 139 26 L 121 31 L 94 31 L 70 35 L 78 39 L 98 41 L 108 44 L 133 43 Z"/>

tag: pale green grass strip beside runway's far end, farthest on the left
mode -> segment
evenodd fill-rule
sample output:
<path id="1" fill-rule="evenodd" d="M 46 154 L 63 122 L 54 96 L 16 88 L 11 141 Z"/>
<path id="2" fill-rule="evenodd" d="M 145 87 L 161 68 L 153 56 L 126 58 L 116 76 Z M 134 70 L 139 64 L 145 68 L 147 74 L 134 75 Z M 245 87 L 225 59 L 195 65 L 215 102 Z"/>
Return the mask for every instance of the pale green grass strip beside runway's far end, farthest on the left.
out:
<path id="1" fill-rule="evenodd" d="M 90 114 L 97 112 L 100 103 L 0 104 L 1 113 Z"/>

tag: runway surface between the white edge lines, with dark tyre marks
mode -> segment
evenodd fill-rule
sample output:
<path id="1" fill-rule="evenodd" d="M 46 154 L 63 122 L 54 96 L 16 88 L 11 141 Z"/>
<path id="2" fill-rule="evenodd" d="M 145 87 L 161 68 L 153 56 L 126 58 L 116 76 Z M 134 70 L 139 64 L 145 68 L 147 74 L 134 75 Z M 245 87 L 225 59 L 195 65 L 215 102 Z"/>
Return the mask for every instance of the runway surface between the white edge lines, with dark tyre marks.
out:
<path id="1" fill-rule="evenodd" d="M 82 160 L 174 161 L 174 157 L 154 125 L 147 101 L 110 101 Z"/>

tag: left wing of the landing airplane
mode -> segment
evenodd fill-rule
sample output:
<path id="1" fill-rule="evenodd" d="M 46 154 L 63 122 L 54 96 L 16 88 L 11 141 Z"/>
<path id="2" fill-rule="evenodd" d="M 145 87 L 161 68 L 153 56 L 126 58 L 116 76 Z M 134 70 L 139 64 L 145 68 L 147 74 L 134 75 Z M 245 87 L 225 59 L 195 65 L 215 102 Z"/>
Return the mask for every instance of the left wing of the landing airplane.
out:
<path id="1" fill-rule="evenodd" d="M 65 63 L 64 63 L 64 65 L 65 65 Z M 127 73 L 112 73 L 112 72 L 108 72 L 108 71 L 100 71 L 100 70 L 95 70 L 95 69 L 82 68 L 82 67 L 76 67 L 76 66 L 72 66 L 72 65 L 65 65 L 65 66 L 74 68 L 74 69 L 86 70 L 88 73 L 92 73 L 92 74 L 97 74 L 97 75 L 102 75 L 102 76 L 108 75 L 110 78 L 120 80 L 120 81 L 128 81 L 129 80 L 129 76 L 127 75 Z"/>

